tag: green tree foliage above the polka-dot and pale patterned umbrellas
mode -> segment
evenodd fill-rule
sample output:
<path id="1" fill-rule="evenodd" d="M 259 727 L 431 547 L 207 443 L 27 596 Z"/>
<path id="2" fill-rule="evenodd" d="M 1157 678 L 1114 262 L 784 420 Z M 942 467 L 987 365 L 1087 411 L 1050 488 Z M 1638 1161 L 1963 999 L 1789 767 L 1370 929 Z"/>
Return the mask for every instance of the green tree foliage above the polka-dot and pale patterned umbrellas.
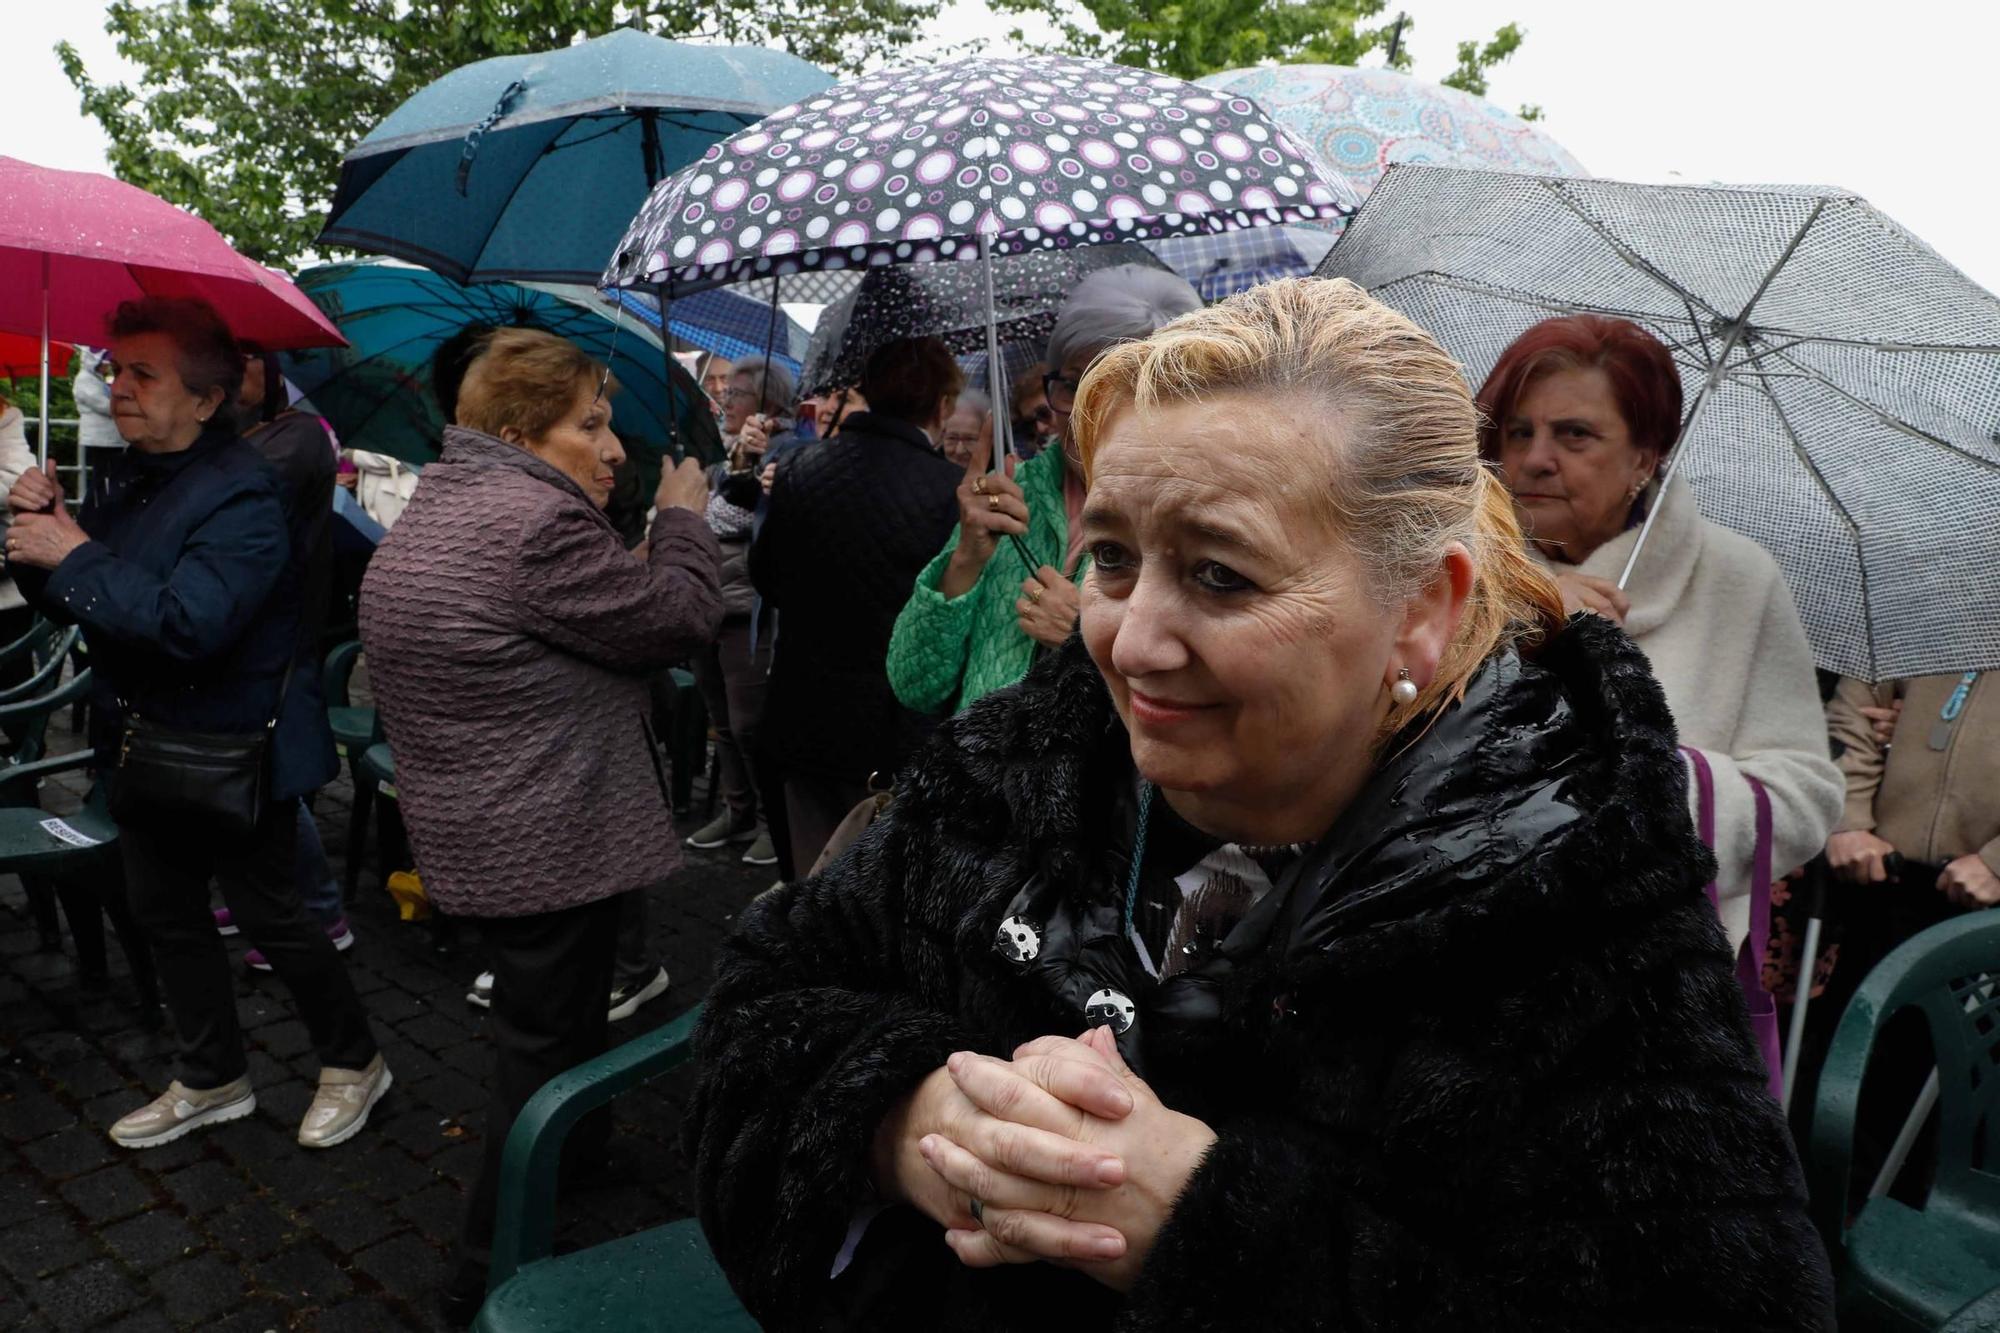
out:
<path id="1" fill-rule="evenodd" d="M 1200 78 L 1252 64 L 1360 64 L 1370 52 L 1390 54 L 1390 66 L 1410 68 L 1414 18 L 1388 10 L 1388 0 L 992 0 L 996 10 L 1034 16 L 1052 26 L 1048 50 L 1098 56 Z M 1402 40 L 1394 44 L 1402 18 Z M 1440 82 L 1484 94 L 1486 74 L 1522 42 L 1508 24 L 1488 42 L 1460 42 L 1458 68 Z M 1016 42 L 1032 44 L 1026 30 Z M 1540 112 L 1538 112 L 1540 114 Z"/>

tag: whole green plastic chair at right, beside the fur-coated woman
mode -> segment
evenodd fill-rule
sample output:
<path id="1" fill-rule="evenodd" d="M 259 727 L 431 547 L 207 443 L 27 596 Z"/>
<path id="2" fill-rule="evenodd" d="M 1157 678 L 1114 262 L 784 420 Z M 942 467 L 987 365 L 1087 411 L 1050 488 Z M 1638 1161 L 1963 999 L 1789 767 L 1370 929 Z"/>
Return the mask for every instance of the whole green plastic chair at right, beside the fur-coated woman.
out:
<path id="1" fill-rule="evenodd" d="M 1922 1209 L 1884 1195 L 1850 1221 L 1862 1073 L 1876 1033 L 1904 1009 L 1924 1013 L 1938 1059 L 1934 1183 Z M 1842 1329 L 2000 1327 L 1956 1323 L 2000 1289 L 2000 911 L 1934 925 L 1868 973 L 1826 1053 L 1810 1149 Z"/>

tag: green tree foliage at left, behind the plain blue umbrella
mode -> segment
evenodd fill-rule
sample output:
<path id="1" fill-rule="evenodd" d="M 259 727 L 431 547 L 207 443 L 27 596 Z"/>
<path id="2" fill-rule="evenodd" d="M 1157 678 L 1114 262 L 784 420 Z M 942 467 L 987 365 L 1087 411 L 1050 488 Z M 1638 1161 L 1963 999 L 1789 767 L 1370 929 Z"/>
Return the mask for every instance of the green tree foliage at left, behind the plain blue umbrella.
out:
<path id="1" fill-rule="evenodd" d="M 782 46 L 852 72 L 908 46 L 942 0 L 114 0 L 106 32 L 138 66 L 98 82 L 56 48 L 120 178 L 194 208 L 238 250 L 290 264 L 312 246 L 340 156 L 404 98 L 488 56 L 568 46 L 620 24 Z"/>

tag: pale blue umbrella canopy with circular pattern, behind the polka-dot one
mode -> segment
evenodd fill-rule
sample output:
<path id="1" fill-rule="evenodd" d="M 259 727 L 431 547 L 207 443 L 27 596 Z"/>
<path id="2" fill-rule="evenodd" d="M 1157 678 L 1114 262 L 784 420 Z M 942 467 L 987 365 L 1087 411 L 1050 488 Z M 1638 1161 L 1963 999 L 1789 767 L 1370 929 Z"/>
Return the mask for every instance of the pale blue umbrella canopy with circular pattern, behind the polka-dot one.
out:
<path id="1" fill-rule="evenodd" d="M 1312 144 L 1360 194 L 1392 162 L 1430 162 L 1536 176 L 1588 176 L 1562 144 L 1520 116 L 1458 88 L 1396 70 L 1278 64 L 1200 80 L 1254 98 Z"/>

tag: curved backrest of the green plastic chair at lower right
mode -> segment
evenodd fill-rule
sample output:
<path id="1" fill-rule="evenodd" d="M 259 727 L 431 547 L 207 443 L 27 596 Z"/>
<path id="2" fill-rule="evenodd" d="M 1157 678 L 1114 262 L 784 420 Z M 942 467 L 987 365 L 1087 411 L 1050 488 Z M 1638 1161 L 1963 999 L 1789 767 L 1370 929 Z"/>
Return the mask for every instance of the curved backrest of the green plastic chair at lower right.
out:
<path id="1" fill-rule="evenodd" d="M 2000 1243 L 2000 911 L 1968 913 L 1908 939 L 1840 1015 L 1812 1109 L 1812 1213 L 1828 1247 L 1846 1225 L 1862 1075 L 1882 1027 L 1918 1009 L 1938 1061 L 1938 1165 L 1926 1211 L 1948 1211 Z"/>

